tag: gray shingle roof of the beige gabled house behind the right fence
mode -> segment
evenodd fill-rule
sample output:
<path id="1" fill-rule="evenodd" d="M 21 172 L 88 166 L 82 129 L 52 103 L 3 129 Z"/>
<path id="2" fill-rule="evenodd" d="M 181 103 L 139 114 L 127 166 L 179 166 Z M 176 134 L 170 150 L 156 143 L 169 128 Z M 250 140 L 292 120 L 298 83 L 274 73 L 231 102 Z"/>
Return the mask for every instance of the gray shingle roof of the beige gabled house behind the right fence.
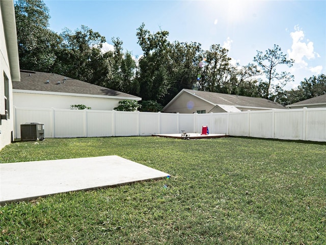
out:
<path id="1" fill-rule="evenodd" d="M 261 107 L 273 109 L 286 109 L 281 104 L 275 103 L 262 98 L 240 96 L 235 94 L 215 93 L 198 91 L 191 89 L 183 89 L 188 93 L 195 94 L 202 99 L 209 101 L 215 105 L 229 105 L 229 106 L 246 106 L 246 107 Z"/>

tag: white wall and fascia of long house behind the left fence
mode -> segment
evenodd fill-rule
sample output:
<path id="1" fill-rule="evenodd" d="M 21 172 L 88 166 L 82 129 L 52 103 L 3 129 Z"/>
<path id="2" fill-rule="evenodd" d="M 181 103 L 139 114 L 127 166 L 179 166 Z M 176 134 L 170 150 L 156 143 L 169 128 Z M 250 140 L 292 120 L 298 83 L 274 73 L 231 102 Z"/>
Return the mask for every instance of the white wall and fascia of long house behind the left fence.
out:
<path id="1" fill-rule="evenodd" d="M 29 108 L 70 109 L 71 105 L 85 105 L 92 110 L 113 110 L 125 97 L 13 90 L 13 105 Z"/>

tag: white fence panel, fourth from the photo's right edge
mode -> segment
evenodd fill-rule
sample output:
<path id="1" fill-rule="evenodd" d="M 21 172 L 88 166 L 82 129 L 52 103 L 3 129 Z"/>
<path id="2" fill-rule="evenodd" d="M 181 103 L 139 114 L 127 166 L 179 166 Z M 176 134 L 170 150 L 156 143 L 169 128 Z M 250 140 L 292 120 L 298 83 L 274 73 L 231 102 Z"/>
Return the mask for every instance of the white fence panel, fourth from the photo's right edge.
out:
<path id="1" fill-rule="evenodd" d="M 230 113 L 229 135 L 249 136 L 249 112 Z"/>

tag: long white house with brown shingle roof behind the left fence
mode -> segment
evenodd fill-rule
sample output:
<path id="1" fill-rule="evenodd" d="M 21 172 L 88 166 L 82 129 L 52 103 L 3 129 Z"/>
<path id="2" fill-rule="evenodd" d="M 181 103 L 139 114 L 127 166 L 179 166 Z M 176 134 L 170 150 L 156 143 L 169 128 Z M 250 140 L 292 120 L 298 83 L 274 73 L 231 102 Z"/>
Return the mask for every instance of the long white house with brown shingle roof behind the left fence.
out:
<path id="1" fill-rule="evenodd" d="M 85 105 L 92 110 L 113 110 L 122 100 L 141 98 L 65 76 L 20 71 L 20 82 L 13 82 L 13 105 L 29 108 L 70 109 Z"/>

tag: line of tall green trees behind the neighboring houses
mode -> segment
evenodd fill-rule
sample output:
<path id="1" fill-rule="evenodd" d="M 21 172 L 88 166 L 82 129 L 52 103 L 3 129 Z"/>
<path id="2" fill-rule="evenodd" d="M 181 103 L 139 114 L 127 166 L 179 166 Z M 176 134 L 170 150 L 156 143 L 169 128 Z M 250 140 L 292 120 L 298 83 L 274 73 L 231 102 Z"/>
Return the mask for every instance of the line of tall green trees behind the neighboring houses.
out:
<path id="1" fill-rule="evenodd" d="M 42 0 L 18 0 L 15 14 L 21 69 L 55 72 L 140 96 L 143 110 L 157 110 L 183 88 L 263 97 L 283 105 L 326 93 L 323 74 L 285 90 L 294 78 L 282 68 L 291 67 L 294 60 L 276 44 L 257 51 L 252 63 L 241 66 L 231 63 L 220 44 L 203 50 L 197 42 L 170 42 L 168 31 L 151 33 L 142 23 L 136 35 L 143 55 L 135 59 L 115 37 L 114 50 L 103 52 L 105 37 L 86 26 L 53 32 Z"/>

